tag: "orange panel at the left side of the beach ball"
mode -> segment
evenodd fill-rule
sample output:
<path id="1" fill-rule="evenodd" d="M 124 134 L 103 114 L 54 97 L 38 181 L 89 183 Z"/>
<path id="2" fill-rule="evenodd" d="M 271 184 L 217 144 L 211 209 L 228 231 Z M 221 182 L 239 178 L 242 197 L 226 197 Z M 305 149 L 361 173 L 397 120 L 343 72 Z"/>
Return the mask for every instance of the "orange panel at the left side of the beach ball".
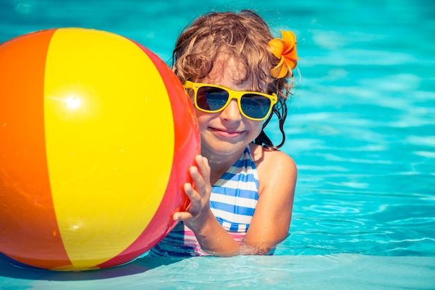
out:
<path id="1" fill-rule="evenodd" d="M 40 268 L 70 264 L 54 214 L 44 139 L 44 68 L 54 32 L 0 47 L 0 250 Z"/>

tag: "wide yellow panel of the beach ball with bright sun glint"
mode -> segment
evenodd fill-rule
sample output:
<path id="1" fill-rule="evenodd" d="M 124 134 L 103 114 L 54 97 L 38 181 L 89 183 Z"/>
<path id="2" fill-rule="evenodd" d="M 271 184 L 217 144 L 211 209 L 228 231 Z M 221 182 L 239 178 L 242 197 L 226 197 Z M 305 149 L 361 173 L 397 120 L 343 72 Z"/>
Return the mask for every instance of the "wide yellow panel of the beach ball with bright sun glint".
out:
<path id="1" fill-rule="evenodd" d="M 137 239 L 165 193 L 174 154 L 165 84 L 130 40 L 58 29 L 47 55 L 44 122 L 67 255 L 74 268 L 101 264 Z"/>

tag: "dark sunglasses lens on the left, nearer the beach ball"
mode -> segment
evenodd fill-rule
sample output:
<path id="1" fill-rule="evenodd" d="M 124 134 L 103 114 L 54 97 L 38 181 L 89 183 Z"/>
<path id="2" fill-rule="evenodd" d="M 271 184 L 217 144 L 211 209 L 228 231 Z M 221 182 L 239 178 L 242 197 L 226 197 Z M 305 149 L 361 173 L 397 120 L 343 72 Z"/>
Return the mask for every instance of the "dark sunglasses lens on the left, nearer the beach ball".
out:
<path id="1" fill-rule="evenodd" d="M 217 111 L 227 104 L 229 94 L 222 88 L 201 87 L 197 92 L 197 105 L 207 111 Z"/>

